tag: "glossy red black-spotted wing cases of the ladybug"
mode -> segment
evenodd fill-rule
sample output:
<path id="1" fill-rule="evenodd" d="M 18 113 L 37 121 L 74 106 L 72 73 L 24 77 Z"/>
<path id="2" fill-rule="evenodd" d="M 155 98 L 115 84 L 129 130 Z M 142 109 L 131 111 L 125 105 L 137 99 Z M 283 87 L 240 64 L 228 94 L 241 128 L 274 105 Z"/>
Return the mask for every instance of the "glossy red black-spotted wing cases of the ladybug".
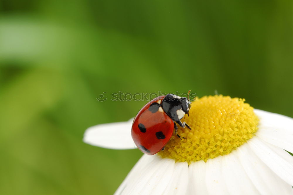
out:
<path id="1" fill-rule="evenodd" d="M 161 107 L 164 96 L 147 103 L 134 118 L 131 135 L 137 147 L 148 155 L 158 153 L 170 140 L 174 122 Z"/>

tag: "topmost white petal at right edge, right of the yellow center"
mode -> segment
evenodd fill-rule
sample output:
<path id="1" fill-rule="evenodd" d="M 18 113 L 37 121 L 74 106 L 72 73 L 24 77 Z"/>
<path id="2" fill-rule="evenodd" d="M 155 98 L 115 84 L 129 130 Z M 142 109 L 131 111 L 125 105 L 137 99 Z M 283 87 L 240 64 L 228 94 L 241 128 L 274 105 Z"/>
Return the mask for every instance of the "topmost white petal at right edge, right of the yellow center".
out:
<path id="1" fill-rule="evenodd" d="M 293 119 L 263 110 L 254 112 L 260 119 L 256 136 L 293 153 Z"/>

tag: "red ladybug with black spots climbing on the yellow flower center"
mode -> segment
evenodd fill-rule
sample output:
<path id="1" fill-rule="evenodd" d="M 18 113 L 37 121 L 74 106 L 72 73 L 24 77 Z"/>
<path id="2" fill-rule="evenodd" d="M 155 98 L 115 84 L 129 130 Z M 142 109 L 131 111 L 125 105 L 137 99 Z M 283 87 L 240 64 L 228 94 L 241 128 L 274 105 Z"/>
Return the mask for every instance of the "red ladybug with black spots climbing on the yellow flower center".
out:
<path id="1" fill-rule="evenodd" d="M 131 128 L 132 139 L 139 150 L 148 155 L 164 150 L 174 129 L 178 138 L 185 139 L 178 135 L 176 123 L 191 129 L 180 121 L 185 114 L 189 116 L 190 104 L 189 98 L 168 93 L 144 105 L 134 118 Z"/>

